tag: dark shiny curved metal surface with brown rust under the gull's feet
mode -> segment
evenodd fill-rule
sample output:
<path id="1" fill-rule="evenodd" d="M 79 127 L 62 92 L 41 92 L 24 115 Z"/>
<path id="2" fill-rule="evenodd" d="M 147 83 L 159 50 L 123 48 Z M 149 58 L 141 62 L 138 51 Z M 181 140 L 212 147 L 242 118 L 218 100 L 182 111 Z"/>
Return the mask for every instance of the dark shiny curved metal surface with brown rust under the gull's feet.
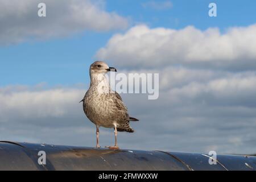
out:
<path id="1" fill-rule="evenodd" d="M 46 152 L 46 164 L 38 162 Z M 0 142 L 0 170 L 255 170 L 256 157 Z"/>

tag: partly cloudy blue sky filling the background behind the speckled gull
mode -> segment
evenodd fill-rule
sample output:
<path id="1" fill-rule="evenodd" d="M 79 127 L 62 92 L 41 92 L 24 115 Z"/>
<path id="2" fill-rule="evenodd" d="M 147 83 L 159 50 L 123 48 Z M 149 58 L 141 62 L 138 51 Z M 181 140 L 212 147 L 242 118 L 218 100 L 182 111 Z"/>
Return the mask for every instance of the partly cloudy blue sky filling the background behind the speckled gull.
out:
<path id="1" fill-rule="evenodd" d="M 0 0 L 0 140 L 95 146 L 82 105 L 89 65 L 159 73 L 159 98 L 121 94 L 121 148 L 256 152 L 254 1 Z M 100 144 L 114 143 L 100 129 Z"/>

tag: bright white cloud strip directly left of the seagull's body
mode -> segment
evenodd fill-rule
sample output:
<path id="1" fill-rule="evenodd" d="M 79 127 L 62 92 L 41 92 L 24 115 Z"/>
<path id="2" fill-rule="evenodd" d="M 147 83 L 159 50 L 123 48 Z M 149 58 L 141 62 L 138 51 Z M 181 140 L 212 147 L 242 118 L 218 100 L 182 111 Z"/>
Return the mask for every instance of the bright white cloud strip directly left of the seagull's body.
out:
<path id="1" fill-rule="evenodd" d="M 78 89 L 23 89 L 21 91 L 11 90 L 11 92 L 2 90 L 0 90 L 1 121 L 9 121 L 14 116 L 16 118 L 32 117 L 36 120 L 73 115 L 74 111 L 69 113 L 69 110 L 78 105 L 83 95 L 82 90 Z"/>

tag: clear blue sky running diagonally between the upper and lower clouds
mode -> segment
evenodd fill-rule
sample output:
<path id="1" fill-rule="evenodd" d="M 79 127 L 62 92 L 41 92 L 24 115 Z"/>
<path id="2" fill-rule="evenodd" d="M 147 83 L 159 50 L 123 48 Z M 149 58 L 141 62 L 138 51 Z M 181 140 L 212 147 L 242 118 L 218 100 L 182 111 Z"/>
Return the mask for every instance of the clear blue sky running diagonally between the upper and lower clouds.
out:
<path id="1" fill-rule="evenodd" d="M 105 9 L 130 18 L 130 26 L 146 23 L 149 27 L 180 29 L 193 25 L 200 30 L 218 27 L 221 31 L 234 26 L 248 26 L 256 22 L 255 1 L 214 1 L 217 17 L 208 16 L 212 1 L 171 1 L 164 10 L 144 8 L 147 1 L 107 1 Z M 0 47 L 0 85 L 88 84 L 88 66 L 97 50 L 104 47 L 116 32 L 84 31 L 68 37 L 31 40 Z"/>

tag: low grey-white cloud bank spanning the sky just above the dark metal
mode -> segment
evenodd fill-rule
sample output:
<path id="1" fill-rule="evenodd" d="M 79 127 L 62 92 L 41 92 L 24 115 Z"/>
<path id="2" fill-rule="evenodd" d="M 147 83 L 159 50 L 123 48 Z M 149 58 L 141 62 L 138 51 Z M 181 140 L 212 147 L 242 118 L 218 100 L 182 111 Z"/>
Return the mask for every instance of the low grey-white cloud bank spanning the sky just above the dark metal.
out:
<path id="1" fill-rule="evenodd" d="M 159 78 L 158 100 L 147 100 L 143 94 L 121 94 L 130 115 L 140 119 L 131 123 L 135 133 L 118 134 L 122 148 L 255 152 L 255 72 L 170 67 Z M 169 84 L 162 81 L 168 78 Z M 85 89 L 44 89 L 40 85 L 1 88 L 0 138 L 94 146 L 95 127 L 78 103 L 84 93 Z M 102 145 L 112 144 L 113 139 L 112 130 L 100 129 Z M 234 146 L 236 142 L 239 144 Z"/>

